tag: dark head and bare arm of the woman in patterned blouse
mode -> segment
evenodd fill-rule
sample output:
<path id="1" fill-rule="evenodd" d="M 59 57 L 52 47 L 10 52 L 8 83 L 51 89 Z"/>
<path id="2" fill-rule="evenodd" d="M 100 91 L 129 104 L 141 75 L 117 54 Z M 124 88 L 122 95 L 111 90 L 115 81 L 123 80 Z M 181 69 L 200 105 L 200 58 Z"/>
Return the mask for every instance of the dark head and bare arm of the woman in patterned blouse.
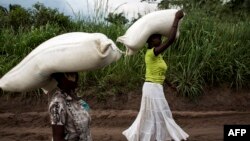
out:
<path id="1" fill-rule="evenodd" d="M 56 77 L 55 79 L 58 82 L 57 86 L 63 92 L 69 94 L 72 98 L 76 98 L 77 96 L 74 95 L 73 92 L 77 88 L 78 74 L 69 73 L 68 76 L 70 77 L 66 78 L 65 75 Z M 65 141 L 64 128 L 64 125 L 52 125 L 53 141 Z"/>

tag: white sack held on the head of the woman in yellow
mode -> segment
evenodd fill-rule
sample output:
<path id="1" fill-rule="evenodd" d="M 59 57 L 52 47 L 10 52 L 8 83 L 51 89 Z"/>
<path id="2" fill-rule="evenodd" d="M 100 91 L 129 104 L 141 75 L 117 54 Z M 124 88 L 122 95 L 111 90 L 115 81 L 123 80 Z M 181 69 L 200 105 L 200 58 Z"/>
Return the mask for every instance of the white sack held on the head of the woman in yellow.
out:
<path id="1" fill-rule="evenodd" d="M 132 24 L 126 33 L 118 37 L 116 41 L 126 46 L 127 55 L 133 55 L 144 46 L 150 35 L 162 34 L 168 37 L 177 11 L 177 9 L 167 9 L 144 15 Z M 176 37 L 178 36 L 179 27 Z"/>

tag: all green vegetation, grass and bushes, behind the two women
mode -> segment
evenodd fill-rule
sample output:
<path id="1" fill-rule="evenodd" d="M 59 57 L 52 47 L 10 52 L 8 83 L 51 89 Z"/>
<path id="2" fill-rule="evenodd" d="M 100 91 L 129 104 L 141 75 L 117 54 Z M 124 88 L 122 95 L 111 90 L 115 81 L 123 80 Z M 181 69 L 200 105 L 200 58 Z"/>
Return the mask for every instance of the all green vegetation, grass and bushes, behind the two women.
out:
<path id="1" fill-rule="evenodd" d="M 169 67 L 167 79 L 181 95 L 196 98 L 207 86 L 226 84 L 236 90 L 249 87 L 250 2 L 237 2 L 222 5 L 217 0 L 164 0 L 161 3 L 162 8 L 181 5 L 186 13 L 180 38 L 164 54 Z M 36 46 L 61 33 L 101 32 L 115 41 L 128 28 L 122 14 L 111 13 L 102 21 L 72 21 L 39 3 L 28 10 L 18 5 L 10 10 L 1 7 L 0 76 Z M 145 72 L 144 52 L 123 57 L 106 68 L 81 73 L 81 89 L 93 89 L 99 99 L 140 89 Z"/>

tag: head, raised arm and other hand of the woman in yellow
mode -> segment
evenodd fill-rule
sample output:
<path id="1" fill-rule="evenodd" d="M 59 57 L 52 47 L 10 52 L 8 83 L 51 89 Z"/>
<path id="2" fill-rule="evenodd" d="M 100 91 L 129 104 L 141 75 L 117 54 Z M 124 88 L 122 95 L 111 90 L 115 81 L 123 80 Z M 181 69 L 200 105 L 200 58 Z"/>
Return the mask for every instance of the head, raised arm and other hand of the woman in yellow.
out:
<path id="1" fill-rule="evenodd" d="M 183 13 L 182 10 L 179 10 L 178 12 L 176 12 L 175 19 L 174 19 L 172 28 L 170 30 L 170 36 L 169 36 L 168 40 L 165 41 L 164 43 L 162 43 L 161 35 L 159 35 L 159 34 L 154 34 L 154 35 L 151 35 L 149 37 L 149 39 L 148 39 L 148 48 L 149 49 L 154 48 L 155 56 L 158 56 L 159 54 L 164 52 L 167 48 L 169 48 L 171 44 L 173 44 L 173 42 L 175 41 L 179 21 L 183 18 L 183 16 L 184 16 L 184 13 Z M 173 86 L 169 81 L 165 80 L 164 82 L 170 88 L 177 91 L 176 87 Z"/>

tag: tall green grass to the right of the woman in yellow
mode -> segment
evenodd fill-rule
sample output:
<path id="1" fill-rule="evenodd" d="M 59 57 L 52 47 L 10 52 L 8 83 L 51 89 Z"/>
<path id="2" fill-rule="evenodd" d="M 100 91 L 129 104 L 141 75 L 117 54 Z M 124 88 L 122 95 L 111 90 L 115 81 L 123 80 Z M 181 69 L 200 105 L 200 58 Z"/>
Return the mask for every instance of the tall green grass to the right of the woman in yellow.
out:
<path id="1" fill-rule="evenodd" d="M 169 78 L 183 95 L 198 96 L 206 85 L 248 85 L 249 24 L 202 16 L 202 11 L 185 17 L 180 39 L 168 51 Z"/>

